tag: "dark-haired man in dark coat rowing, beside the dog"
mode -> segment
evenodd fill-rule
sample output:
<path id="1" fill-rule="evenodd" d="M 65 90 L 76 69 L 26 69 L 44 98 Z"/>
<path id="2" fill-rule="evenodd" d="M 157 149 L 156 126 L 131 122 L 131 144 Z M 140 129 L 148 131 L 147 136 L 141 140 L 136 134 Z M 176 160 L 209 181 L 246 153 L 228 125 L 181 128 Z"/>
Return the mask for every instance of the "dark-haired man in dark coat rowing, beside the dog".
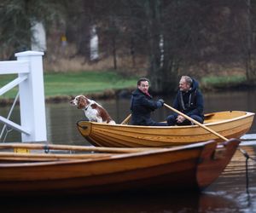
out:
<path id="1" fill-rule="evenodd" d="M 148 93 L 148 78 L 140 78 L 137 81 L 137 89 L 131 93 L 131 124 L 145 126 L 166 126 L 166 123 L 155 122 L 150 118 L 151 112 L 163 107 L 164 101 L 153 101 Z"/>

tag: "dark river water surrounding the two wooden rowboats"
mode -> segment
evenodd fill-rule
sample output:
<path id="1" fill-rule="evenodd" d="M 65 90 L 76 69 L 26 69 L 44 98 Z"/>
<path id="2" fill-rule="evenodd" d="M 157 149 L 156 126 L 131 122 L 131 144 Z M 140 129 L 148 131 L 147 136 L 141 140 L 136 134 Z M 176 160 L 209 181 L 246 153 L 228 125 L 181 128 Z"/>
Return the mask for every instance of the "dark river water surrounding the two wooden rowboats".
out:
<path id="1" fill-rule="evenodd" d="M 256 90 L 205 94 L 205 112 L 241 110 L 256 112 Z M 172 105 L 173 97 L 164 97 Z M 98 101 L 111 117 L 120 123 L 130 111 L 129 99 Z M 0 114 L 7 117 L 9 107 L 1 107 Z M 154 112 L 155 120 L 163 120 L 171 113 L 162 108 Z M 84 118 L 84 112 L 69 103 L 47 104 L 47 138 L 55 144 L 90 145 L 79 135 L 76 122 Z M 19 108 L 11 120 L 19 122 Z M 2 125 L 0 125 L 2 130 Z M 252 141 L 242 142 L 242 149 L 256 158 L 256 121 L 245 135 Z M 10 131 L 6 141 L 20 141 L 20 135 Z M 201 193 L 155 193 L 117 194 L 88 198 L 79 196 L 67 199 L 15 199 L 0 200 L 1 212 L 256 212 L 256 162 L 248 160 L 246 178 L 246 158 L 237 151 L 230 164 L 217 181 Z M 248 181 L 247 181 L 248 180 Z M 248 187 L 247 187 L 248 186 Z M 2 201 L 2 202 L 1 202 Z"/>

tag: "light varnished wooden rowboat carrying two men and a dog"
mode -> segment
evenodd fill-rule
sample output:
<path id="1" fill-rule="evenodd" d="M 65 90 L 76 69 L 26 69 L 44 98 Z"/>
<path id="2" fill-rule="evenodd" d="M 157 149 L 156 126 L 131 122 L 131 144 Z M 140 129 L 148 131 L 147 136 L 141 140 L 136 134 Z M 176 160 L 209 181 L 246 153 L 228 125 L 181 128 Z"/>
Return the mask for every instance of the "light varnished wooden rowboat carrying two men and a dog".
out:
<path id="1" fill-rule="evenodd" d="M 204 125 L 226 138 L 240 138 L 253 124 L 253 112 L 228 111 L 206 114 Z M 79 132 L 96 147 L 170 147 L 201 141 L 223 141 L 198 125 L 137 126 L 77 123 Z"/>

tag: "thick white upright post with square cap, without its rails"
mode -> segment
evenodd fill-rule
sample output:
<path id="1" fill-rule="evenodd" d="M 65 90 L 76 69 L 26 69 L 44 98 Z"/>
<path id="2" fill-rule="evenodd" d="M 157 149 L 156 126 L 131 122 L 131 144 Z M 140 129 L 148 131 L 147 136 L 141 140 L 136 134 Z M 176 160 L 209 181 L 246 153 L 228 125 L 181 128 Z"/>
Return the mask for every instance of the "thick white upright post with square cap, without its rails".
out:
<path id="1" fill-rule="evenodd" d="M 47 141 L 45 103 L 44 103 L 44 71 L 43 52 L 26 51 L 15 54 L 17 60 L 26 60 L 30 66 L 29 73 L 19 73 L 27 79 L 20 83 L 20 124 L 30 135 L 21 134 L 21 141 Z"/>

